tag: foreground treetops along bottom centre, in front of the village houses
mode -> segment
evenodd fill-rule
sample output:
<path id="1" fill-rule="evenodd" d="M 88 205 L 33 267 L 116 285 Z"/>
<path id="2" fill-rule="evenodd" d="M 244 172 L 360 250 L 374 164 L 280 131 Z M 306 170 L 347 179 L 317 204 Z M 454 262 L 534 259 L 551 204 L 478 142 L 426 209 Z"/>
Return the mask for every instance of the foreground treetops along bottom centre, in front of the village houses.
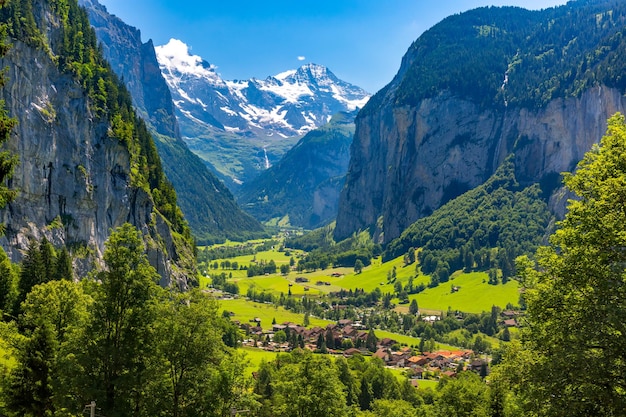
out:
<path id="1" fill-rule="evenodd" d="M 254 393 L 260 402 L 256 415 L 302 417 L 495 416 L 502 395 L 475 372 L 443 377 L 435 390 L 416 390 L 378 358 L 332 360 L 303 350 L 262 363 Z"/>

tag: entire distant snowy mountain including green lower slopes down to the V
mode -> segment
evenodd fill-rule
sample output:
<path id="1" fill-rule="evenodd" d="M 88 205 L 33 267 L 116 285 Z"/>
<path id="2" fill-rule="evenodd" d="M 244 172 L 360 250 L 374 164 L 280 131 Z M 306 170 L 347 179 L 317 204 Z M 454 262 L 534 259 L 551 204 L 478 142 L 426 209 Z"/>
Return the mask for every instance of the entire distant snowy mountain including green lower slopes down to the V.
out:
<path id="1" fill-rule="evenodd" d="M 157 46 L 156 54 L 183 139 L 236 193 L 304 134 L 369 99 L 322 65 L 307 64 L 265 80 L 228 81 L 179 40 Z"/>

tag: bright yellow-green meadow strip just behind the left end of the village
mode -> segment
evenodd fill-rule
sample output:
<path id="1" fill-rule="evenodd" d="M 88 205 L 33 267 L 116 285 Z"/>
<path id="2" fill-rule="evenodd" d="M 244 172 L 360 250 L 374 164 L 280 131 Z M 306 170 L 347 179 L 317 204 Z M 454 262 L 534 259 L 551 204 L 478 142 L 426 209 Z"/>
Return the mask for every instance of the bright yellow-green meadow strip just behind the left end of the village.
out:
<path id="1" fill-rule="evenodd" d="M 258 317 L 261 319 L 261 327 L 263 330 L 272 328 L 272 320 L 276 319 L 276 323 L 292 322 L 302 325 L 304 322 L 304 314 L 298 314 L 285 310 L 282 307 L 276 307 L 271 304 L 261 304 L 248 301 L 243 298 L 233 300 L 220 300 L 220 312 L 223 310 L 234 312 L 232 320 L 239 320 L 242 323 L 249 323 L 250 320 Z M 310 326 L 326 327 L 328 320 L 321 320 L 316 317 L 310 317 Z"/>

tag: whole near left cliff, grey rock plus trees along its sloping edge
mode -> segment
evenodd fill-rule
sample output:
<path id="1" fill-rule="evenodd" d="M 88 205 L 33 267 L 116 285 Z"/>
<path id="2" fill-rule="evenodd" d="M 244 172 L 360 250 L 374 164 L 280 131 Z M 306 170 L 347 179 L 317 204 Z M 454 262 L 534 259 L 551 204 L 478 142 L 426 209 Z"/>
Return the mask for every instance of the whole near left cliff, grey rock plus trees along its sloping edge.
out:
<path id="1" fill-rule="evenodd" d="M 110 228 L 132 222 L 163 283 L 186 285 L 195 271 L 189 227 L 85 11 L 75 0 L 15 0 L 0 19 L 13 44 L 4 97 L 18 121 L 8 148 L 21 161 L 5 248 L 19 259 L 17 249 L 46 236 L 96 261 Z"/>

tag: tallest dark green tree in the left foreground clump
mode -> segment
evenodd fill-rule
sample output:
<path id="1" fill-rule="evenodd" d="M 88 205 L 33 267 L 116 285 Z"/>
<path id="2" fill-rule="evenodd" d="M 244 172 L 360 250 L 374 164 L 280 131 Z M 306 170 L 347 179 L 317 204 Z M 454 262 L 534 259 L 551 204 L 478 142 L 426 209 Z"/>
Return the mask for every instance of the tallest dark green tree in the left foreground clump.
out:
<path id="1" fill-rule="evenodd" d="M 154 354 L 151 325 L 159 275 L 144 254 L 141 234 L 126 223 L 106 244 L 107 270 L 94 293 L 92 317 L 81 335 L 78 362 L 82 395 L 98 401 L 105 415 L 146 407 L 146 361 Z"/>

